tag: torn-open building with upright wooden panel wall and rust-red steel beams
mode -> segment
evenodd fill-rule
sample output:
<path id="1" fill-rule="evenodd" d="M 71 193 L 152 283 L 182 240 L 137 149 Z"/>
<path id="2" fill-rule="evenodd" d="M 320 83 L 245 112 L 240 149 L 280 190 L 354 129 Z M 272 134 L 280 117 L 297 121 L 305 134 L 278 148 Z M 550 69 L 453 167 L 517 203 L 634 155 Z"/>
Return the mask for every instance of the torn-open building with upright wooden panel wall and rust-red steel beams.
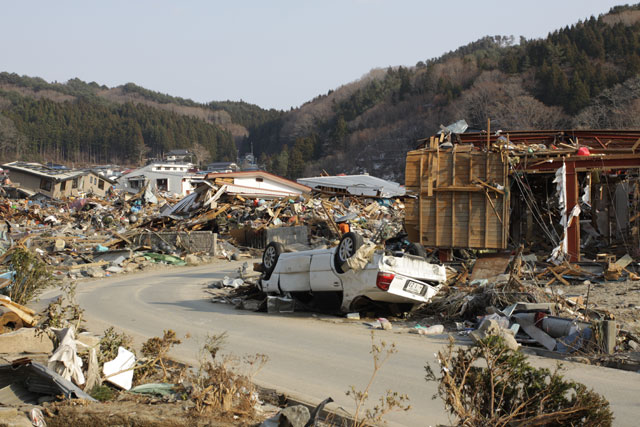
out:
<path id="1" fill-rule="evenodd" d="M 407 155 L 406 229 L 439 249 L 638 254 L 640 132 L 442 133 Z"/>

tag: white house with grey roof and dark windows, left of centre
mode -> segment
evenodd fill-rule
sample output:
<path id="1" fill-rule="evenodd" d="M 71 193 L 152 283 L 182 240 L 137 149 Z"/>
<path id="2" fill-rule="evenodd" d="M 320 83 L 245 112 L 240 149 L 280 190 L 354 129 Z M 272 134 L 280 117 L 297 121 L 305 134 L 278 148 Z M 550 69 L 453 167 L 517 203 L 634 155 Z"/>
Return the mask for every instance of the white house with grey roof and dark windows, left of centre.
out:
<path id="1" fill-rule="evenodd" d="M 193 191 L 192 181 L 202 180 L 193 172 L 192 163 L 154 162 L 129 171 L 118 178 L 116 188 L 137 193 L 146 183 L 156 193 L 186 196 Z"/>

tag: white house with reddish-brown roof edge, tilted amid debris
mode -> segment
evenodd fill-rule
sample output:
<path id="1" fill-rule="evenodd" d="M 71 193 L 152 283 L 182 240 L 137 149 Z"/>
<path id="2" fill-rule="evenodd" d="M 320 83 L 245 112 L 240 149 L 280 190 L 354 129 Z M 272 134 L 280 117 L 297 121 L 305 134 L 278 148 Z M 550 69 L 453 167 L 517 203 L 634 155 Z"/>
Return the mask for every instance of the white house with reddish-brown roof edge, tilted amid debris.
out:
<path id="1" fill-rule="evenodd" d="M 260 199 L 297 197 L 311 191 L 306 185 L 265 171 L 209 173 L 206 179 L 216 185 L 226 185 L 227 194 Z"/>

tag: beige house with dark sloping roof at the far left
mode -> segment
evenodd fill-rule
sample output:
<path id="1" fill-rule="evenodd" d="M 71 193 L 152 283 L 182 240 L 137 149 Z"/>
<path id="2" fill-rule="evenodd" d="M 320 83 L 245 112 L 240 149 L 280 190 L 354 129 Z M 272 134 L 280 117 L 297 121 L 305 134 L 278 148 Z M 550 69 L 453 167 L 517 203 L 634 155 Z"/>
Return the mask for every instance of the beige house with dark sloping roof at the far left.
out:
<path id="1" fill-rule="evenodd" d="M 14 187 L 28 195 L 40 193 L 53 199 L 90 193 L 104 197 L 114 183 L 91 170 L 50 168 L 40 163 L 11 162 L 3 168 L 10 172 Z"/>

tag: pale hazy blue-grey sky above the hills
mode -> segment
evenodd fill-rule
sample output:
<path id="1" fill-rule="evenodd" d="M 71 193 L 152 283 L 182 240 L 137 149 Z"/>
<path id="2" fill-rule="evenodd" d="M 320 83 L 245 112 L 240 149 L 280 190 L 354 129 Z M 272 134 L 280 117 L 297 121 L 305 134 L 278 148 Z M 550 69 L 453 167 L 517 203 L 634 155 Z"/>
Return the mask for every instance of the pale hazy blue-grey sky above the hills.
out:
<path id="1" fill-rule="evenodd" d="M 610 0 L 0 0 L 0 71 L 288 109 L 485 35 L 544 37 Z"/>

